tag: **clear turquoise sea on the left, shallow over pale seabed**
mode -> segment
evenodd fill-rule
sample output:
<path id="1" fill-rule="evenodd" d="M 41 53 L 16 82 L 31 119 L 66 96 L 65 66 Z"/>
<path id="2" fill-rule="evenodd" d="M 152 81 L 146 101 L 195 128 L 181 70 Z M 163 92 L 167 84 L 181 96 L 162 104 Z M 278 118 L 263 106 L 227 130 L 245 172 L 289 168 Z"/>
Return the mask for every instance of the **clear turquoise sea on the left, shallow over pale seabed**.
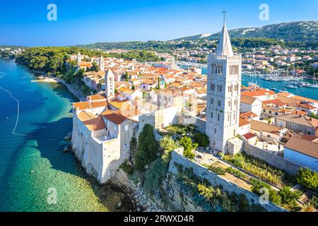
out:
<path id="1" fill-rule="evenodd" d="M 34 79 L 0 57 L 0 87 L 16 98 L 0 88 L 0 211 L 107 211 L 98 185 L 58 148 L 72 129 L 73 97 L 63 85 Z M 49 188 L 57 191 L 56 205 L 47 203 Z"/>

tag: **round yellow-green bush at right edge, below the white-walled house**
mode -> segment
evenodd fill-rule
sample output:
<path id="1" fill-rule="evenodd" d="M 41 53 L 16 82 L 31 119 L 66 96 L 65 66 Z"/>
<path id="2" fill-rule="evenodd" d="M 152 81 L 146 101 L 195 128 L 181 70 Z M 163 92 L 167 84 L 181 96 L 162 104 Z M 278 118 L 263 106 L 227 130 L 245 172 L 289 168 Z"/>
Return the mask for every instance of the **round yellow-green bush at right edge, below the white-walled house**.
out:
<path id="1" fill-rule="evenodd" d="M 318 186 L 318 174 L 308 168 L 300 168 L 297 174 L 297 182 L 306 189 L 316 189 Z"/>

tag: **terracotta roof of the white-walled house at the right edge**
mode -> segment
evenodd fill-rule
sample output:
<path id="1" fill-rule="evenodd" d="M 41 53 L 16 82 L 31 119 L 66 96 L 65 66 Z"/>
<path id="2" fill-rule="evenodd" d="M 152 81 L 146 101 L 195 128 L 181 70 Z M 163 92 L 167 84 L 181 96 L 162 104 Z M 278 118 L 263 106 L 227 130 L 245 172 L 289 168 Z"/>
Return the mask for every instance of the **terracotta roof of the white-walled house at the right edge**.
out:
<path id="1" fill-rule="evenodd" d="M 298 153 L 308 155 L 318 159 L 318 143 L 307 141 L 304 138 L 292 136 L 285 144 L 285 148 L 295 150 Z"/>

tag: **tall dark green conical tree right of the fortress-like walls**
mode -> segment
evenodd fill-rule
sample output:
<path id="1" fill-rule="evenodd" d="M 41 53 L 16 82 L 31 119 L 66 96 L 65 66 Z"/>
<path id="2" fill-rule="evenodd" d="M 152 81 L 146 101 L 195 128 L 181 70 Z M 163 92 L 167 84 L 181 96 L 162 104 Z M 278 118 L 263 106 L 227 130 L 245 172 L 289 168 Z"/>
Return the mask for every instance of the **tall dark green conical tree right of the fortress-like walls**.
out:
<path id="1" fill-rule="evenodd" d="M 144 167 L 155 160 L 158 153 L 158 142 L 155 141 L 153 126 L 146 124 L 139 135 L 138 150 L 135 156 L 136 169 Z"/>

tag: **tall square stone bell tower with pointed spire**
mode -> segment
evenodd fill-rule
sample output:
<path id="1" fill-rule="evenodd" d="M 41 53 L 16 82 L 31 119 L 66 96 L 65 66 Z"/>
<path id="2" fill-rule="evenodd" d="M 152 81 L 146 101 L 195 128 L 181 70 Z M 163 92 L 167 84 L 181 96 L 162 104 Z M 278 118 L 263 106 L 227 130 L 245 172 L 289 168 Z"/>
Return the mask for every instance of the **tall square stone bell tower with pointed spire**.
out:
<path id="1" fill-rule="evenodd" d="M 242 57 L 233 54 L 225 22 L 216 53 L 208 55 L 206 135 L 210 147 L 223 153 L 229 138 L 237 136 L 240 120 Z"/>

